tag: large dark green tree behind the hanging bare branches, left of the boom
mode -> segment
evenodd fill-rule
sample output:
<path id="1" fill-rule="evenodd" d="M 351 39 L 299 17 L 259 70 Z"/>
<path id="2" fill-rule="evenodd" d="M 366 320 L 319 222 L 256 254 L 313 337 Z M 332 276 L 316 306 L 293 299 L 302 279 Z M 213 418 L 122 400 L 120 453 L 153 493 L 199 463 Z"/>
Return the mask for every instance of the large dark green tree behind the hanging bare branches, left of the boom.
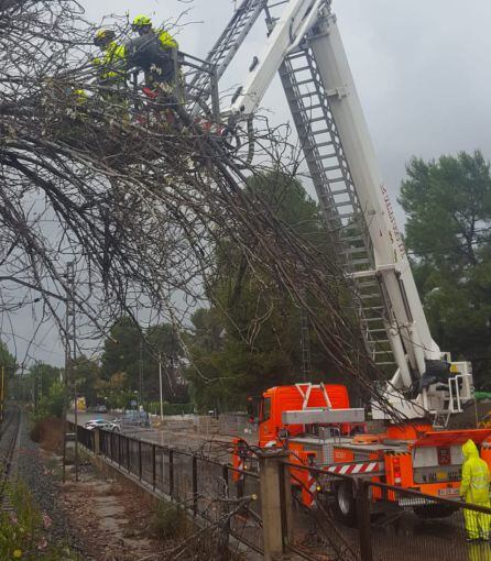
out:
<path id="1" fill-rule="evenodd" d="M 247 189 L 288 228 L 325 250 L 318 207 L 298 180 L 277 172 L 252 177 Z M 247 232 L 237 239 L 247 239 Z M 211 305 L 192 318 L 186 375 L 201 410 L 243 408 L 248 395 L 302 377 L 301 310 L 260 264 L 252 267 L 241 256 L 237 243 L 225 239 L 217 245 L 208 287 Z M 329 377 L 321 354 L 314 349 L 313 356 L 313 376 Z"/>

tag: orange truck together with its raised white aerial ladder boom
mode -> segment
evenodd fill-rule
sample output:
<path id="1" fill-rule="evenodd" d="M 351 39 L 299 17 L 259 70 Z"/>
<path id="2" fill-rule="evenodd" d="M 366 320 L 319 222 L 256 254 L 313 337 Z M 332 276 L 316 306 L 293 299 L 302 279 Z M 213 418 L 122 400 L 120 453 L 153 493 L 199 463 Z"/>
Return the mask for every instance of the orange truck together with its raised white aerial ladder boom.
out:
<path id="1" fill-rule="evenodd" d="M 446 430 L 450 417 L 473 399 L 471 365 L 452 362 L 432 338 L 331 1 L 243 0 L 208 56 L 217 76 L 261 13 L 264 48 L 252 58 L 221 118 L 229 128 L 250 123 L 280 75 L 330 242 L 353 286 L 367 350 L 390 380 L 371 404 L 372 418 L 386 425 L 372 441 L 356 435 L 364 431 L 364 410 L 350 407 L 343 386 L 304 381 L 268 389 L 251 408 L 260 447 L 287 448 L 297 461 L 315 459 L 326 473 L 352 472 L 435 496 L 458 496 L 461 444 L 468 438 L 482 444 L 491 465 L 485 444 L 491 430 Z M 211 96 L 207 80 L 198 75 L 194 81 L 205 100 Z M 198 114 L 200 106 L 189 103 Z M 237 446 L 234 462 L 244 465 L 244 442 L 239 439 Z M 348 508 L 353 502 L 346 499 L 350 490 L 335 487 L 345 521 L 353 517 Z M 309 503 L 312 496 L 305 498 Z"/>

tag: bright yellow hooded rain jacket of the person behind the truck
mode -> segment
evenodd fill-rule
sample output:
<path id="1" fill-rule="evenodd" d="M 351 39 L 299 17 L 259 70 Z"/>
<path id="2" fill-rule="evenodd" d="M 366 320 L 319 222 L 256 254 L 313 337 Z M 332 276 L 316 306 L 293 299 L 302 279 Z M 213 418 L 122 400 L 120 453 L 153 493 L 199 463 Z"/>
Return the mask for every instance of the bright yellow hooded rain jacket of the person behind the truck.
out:
<path id="1" fill-rule="evenodd" d="M 479 458 L 479 451 L 472 440 L 462 446 L 466 461 L 462 465 L 460 496 L 474 505 L 489 504 L 490 473 L 488 464 Z"/>

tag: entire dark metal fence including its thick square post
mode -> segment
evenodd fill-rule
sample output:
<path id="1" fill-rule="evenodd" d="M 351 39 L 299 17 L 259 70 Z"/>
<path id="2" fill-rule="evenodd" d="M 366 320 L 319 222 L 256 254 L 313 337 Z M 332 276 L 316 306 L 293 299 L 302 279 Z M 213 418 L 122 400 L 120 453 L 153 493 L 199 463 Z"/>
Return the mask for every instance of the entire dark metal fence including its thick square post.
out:
<path id="1" fill-rule="evenodd" d="M 291 464 L 282 450 L 258 452 L 259 471 L 253 472 L 119 432 L 78 427 L 77 436 L 108 463 L 184 505 L 196 520 L 220 525 L 266 560 L 294 553 L 312 561 L 491 561 L 491 546 L 482 539 L 491 522 L 489 508 L 377 483 L 365 474 Z M 302 470 L 309 475 L 302 480 L 313 482 L 310 509 L 298 496 L 303 483 L 295 474 Z M 336 517 L 340 492 L 351 527 Z M 476 539 L 468 542 L 468 537 Z"/>

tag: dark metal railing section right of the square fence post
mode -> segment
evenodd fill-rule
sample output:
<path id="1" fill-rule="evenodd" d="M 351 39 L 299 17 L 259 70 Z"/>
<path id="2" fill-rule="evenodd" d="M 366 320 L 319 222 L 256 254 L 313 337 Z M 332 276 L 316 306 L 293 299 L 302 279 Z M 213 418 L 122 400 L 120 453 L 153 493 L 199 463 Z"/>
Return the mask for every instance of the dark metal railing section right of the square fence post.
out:
<path id="1" fill-rule="evenodd" d="M 336 560 L 354 554 L 361 561 L 491 561 L 491 508 L 294 466 L 317 482 L 316 506 L 296 513 L 294 551 L 299 548 L 310 559 L 324 549 Z M 341 485 L 350 492 L 345 515 L 353 515 L 351 520 L 346 516 L 345 524 L 337 516 Z M 342 547 L 348 553 L 340 552 Z"/>

